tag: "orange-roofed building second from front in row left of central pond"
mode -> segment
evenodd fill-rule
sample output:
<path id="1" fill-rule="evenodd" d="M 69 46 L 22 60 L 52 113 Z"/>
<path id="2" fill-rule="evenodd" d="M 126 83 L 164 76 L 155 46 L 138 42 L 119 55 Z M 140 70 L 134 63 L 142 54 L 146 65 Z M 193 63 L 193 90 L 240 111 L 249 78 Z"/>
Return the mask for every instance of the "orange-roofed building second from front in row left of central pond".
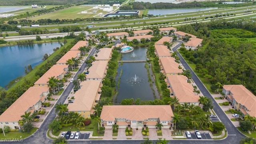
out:
<path id="1" fill-rule="evenodd" d="M 86 74 L 86 80 L 99 80 L 106 76 L 108 69 L 108 61 L 98 60 L 92 62 L 92 66 L 88 69 L 89 74 Z"/>

